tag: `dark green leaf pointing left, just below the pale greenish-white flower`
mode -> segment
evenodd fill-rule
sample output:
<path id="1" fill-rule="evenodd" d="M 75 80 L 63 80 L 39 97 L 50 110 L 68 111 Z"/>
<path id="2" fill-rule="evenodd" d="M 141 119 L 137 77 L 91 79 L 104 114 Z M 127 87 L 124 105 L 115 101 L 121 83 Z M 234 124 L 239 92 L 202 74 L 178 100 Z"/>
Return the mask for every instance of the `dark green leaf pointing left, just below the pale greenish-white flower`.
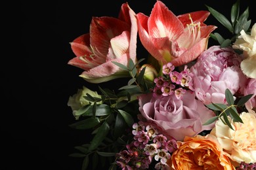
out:
<path id="1" fill-rule="evenodd" d="M 74 124 L 70 124 L 70 127 L 75 129 L 91 129 L 100 123 L 99 118 L 87 118 L 85 120 L 81 120 L 79 122 L 75 122 Z"/>

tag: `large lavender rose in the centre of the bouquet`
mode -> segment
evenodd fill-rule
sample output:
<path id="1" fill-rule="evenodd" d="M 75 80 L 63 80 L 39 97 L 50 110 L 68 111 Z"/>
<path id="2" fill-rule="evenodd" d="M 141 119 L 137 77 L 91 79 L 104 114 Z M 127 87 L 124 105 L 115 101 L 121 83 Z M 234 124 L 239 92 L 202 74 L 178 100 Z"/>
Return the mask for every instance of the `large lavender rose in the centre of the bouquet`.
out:
<path id="1" fill-rule="evenodd" d="M 174 94 L 161 97 L 143 94 L 139 96 L 139 110 L 146 121 L 156 124 L 163 133 L 183 141 L 185 136 L 192 137 L 214 127 L 214 123 L 202 125 L 215 114 L 195 97 L 190 91 L 182 99 Z"/>

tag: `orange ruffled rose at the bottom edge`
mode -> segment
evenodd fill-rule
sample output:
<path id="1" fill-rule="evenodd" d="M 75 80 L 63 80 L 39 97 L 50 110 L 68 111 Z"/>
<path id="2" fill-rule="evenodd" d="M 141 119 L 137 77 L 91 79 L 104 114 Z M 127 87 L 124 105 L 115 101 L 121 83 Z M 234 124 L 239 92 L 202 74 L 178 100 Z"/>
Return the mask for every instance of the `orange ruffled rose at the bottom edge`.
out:
<path id="1" fill-rule="evenodd" d="M 213 135 L 185 137 L 171 156 L 173 169 L 235 169 Z"/>

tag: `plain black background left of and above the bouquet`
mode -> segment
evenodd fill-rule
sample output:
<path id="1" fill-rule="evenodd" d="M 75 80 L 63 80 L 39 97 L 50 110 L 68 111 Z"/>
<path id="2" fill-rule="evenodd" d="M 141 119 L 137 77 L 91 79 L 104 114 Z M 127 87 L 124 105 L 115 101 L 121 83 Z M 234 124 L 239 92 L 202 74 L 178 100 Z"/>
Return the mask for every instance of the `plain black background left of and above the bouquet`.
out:
<path id="1" fill-rule="evenodd" d="M 75 151 L 74 146 L 88 141 L 90 135 L 68 126 L 75 120 L 67 103 L 78 88 L 95 86 L 79 77 L 81 69 L 67 64 L 75 57 L 69 42 L 89 32 L 92 16 L 117 17 L 125 2 L 136 13 L 149 15 L 156 1 L 35 1 L 17 5 L 12 50 L 5 56 L 8 65 L 2 65 L 11 69 L 3 71 L 2 76 L 7 85 L 2 97 L 7 103 L 2 104 L 1 113 L 1 169 L 81 169 L 82 160 L 68 154 Z M 235 1 L 165 0 L 163 3 L 176 15 L 207 10 L 205 5 L 208 5 L 230 19 Z M 241 11 L 247 6 L 249 18 L 255 23 L 252 1 L 242 1 Z M 217 25 L 215 32 L 228 35 L 213 16 L 205 23 Z M 142 51 L 138 54 L 143 55 Z"/>

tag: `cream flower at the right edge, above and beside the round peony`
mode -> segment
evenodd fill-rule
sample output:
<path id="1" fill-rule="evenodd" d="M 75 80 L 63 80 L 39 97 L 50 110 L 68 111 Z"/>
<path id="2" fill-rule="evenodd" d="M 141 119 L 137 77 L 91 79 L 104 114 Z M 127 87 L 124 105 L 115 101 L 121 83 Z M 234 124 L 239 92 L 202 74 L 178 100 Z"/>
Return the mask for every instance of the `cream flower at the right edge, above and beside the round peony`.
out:
<path id="1" fill-rule="evenodd" d="M 241 62 L 241 69 L 250 78 L 256 78 L 256 23 L 251 28 L 251 35 L 247 35 L 244 29 L 233 44 L 233 48 L 244 51 L 244 60 Z"/>

